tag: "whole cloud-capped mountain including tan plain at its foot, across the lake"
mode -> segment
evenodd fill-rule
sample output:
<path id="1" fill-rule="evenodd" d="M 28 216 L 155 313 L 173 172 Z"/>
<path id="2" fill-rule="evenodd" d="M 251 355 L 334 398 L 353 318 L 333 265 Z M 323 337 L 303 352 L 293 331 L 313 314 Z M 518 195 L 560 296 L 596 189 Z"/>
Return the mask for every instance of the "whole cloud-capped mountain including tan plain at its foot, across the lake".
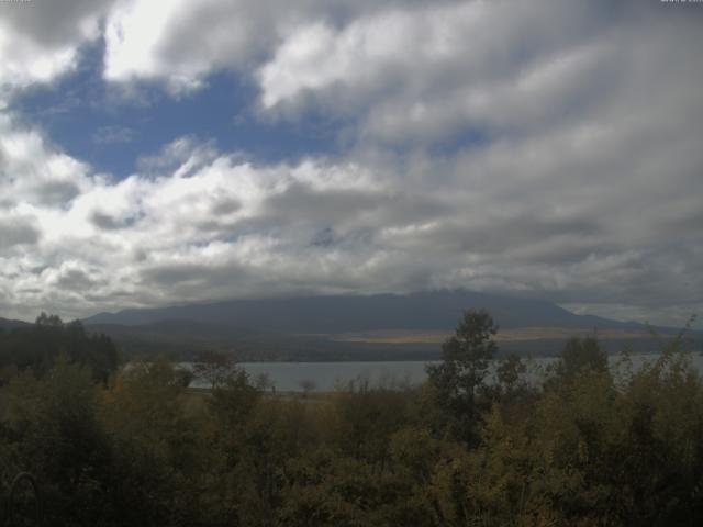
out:
<path id="1" fill-rule="evenodd" d="M 609 350 L 651 346 L 641 324 L 577 315 L 540 300 L 464 290 L 233 300 L 100 313 L 83 324 L 112 337 L 126 356 L 167 351 L 192 360 L 200 351 L 217 349 L 244 361 L 427 360 L 438 357 L 442 340 L 468 309 L 493 315 L 499 335 L 509 337 L 501 341 L 503 351 L 555 355 L 567 336 L 592 329 L 602 332 Z M 560 328 L 560 336 L 546 328 Z"/>

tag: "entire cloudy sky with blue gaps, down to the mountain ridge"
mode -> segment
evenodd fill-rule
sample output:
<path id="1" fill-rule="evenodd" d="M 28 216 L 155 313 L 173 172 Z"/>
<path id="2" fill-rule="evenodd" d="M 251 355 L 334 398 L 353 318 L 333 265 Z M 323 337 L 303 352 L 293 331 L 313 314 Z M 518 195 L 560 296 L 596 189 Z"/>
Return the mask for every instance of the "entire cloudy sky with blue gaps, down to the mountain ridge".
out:
<path id="1" fill-rule="evenodd" d="M 0 316 L 464 288 L 681 326 L 702 48 L 701 2 L 0 0 Z"/>

